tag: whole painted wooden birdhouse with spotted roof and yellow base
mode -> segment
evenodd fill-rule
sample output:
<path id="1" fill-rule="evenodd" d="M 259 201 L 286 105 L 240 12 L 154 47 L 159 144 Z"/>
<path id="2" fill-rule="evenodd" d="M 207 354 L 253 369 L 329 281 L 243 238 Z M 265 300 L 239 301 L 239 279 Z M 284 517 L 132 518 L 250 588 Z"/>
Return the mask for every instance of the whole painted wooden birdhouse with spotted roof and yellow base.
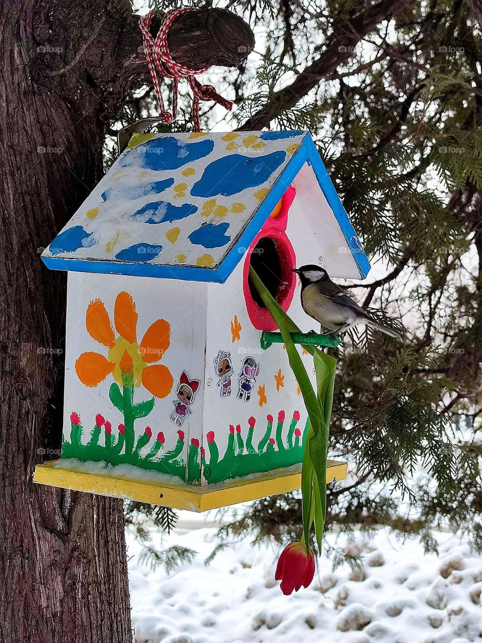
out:
<path id="1" fill-rule="evenodd" d="M 134 134 L 42 259 L 66 372 L 36 482 L 194 511 L 299 487 L 307 412 L 249 266 L 305 331 L 294 267 L 370 269 L 308 132 Z"/>

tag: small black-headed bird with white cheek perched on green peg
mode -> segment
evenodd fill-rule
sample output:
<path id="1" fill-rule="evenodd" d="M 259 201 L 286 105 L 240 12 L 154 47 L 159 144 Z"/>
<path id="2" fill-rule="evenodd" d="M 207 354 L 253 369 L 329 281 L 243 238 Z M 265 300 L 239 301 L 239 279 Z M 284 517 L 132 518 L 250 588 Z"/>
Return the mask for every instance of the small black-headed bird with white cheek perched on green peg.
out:
<path id="1" fill-rule="evenodd" d="M 364 324 L 391 337 L 400 337 L 397 332 L 372 320 L 361 306 L 332 282 L 324 268 L 308 265 L 293 272 L 301 279 L 303 310 L 332 334 L 348 331 L 355 324 Z"/>

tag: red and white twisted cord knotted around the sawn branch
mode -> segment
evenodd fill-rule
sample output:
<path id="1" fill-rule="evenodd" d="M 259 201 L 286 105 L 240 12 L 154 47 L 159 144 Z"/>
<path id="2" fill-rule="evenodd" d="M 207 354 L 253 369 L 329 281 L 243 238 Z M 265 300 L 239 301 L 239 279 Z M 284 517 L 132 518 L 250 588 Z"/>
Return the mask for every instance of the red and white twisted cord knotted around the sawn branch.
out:
<path id="1" fill-rule="evenodd" d="M 150 33 L 150 26 L 152 24 L 154 12 L 151 11 L 148 14 L 143 15 L 139 20 L 139 27 L 142 32 L 144 51 L 152 78 L 152 84 L 154 86 L 154 92 L 156 93 L 157 102 L 159 103 L 159 108 L 161 110 L 161 114 L 159 114 L 160 118 L 166 123 L 170 123 L 175 120 L 177 116 L 177 89 L 179 78 L 186 78 L 193 91 L 192 118 L 194 131 L 199 132 L 201 131 L 201 123 L 199 122 L 199 102 L 201 100 L 215 100 L 223 107 L 226 107 L 229 111 L 231 111 L 233 103 L 220 96 L 215 87 L 212 85 L 202 85 L 199 80 L 194 77 L 197 74 L 202 74 L 205 71 L 208 71 L 208 67 L 204 67 L 202 69 L 190 69 L 188 67 L 184 67 L 178 62 L 175 62 L 175 60 L 172 60 L 167 44 L 167 33 L 175 19 L 186 11 L 199 11 L 199 8 L 185 7 L 182 9 L 172 9 L 171 11 L 168 11 L 163 17 L 161 26 L 159 27 L 159 32 L 157 32 L 155 39 Z M 172 78 L 172 112 L 166 110 L 163 95 L 161 93 L 161 81 L 159 75 L 165 78 Z"/>

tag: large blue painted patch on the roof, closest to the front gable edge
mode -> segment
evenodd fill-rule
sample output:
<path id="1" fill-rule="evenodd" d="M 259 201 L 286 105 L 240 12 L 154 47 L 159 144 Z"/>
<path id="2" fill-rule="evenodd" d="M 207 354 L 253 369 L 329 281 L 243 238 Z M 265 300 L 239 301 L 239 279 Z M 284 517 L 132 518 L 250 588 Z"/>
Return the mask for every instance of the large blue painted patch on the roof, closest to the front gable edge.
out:
<path id="1" fill-rule="evenodd" d="M 231 196 L 246 188 L 255 188 L 265 183 L 285 158 L 286 152 L 282 150 L 254 157 L 229 154 L 205 168 L 191 194 L 195 197 Z"/>

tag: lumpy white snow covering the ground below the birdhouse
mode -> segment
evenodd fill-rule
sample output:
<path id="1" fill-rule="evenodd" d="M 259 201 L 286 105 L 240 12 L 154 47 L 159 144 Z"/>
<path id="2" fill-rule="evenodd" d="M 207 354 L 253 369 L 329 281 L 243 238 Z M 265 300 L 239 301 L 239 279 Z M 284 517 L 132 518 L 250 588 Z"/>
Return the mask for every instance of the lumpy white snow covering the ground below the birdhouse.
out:
<path id="1" fill-rule="evenodd" d="M 438 534 L 439 557 L 386 529 L 348 544 L 328 534 L 330 544 L 362 551 L 362 571 L 332 573 L 321 561 L 309 588 L 283 596 L 274 581 L 279 548 L 243 539 L 205 566 L 216 532 L 212 514 L 181 512 L 163 545 L 199 554 L 170 575 L 139 564 L 140 546 L 127 535 L 136 643 L 482 643 L 481 559 L 451 534 Z"/>

